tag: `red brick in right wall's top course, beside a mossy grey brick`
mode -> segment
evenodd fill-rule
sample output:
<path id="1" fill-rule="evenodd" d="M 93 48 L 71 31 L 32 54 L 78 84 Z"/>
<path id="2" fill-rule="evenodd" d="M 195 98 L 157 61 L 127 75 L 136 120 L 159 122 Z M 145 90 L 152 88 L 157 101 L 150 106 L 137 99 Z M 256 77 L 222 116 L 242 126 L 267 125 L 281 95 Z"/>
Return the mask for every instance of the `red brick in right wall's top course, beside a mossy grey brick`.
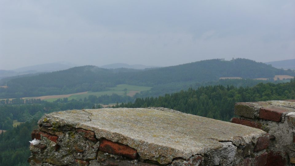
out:
<path id="1" fill-rule="evenodd" d="M 288 110 L 283 107 L 268 107 L 260 108 L 259 118 L 280 122 L 281 114 L 287 112 Z"/>

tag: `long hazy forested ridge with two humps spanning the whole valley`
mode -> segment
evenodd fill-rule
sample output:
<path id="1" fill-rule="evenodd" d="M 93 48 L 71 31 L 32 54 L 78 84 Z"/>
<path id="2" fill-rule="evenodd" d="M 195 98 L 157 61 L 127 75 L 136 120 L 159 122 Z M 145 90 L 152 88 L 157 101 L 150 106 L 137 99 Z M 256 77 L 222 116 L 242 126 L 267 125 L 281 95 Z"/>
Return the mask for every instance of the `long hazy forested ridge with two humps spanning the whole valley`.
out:
<path id="1" fill-rule="evenodd" d="M 219 77 L 272 78 L 275 75 L 295 76 L 291 70 L 248 59 L 198 61 L 157 69 L 103 69 L 81 66 L 67 70 L 15 78 L 0 88 L 0 98 L 69 94 L 83 91 L 104 91 L 118 84 L 155 86 L 178 82 L 207 82 Z"/>

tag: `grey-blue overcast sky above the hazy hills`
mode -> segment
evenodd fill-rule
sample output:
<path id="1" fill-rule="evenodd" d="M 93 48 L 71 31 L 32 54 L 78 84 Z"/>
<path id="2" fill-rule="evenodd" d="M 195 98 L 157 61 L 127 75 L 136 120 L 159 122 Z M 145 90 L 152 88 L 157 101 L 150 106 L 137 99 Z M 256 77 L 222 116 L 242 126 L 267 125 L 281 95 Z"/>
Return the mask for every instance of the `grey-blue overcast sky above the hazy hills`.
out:
<path id="1" fill-rule="evenodd" d="M 0 69 L 295 59 L 294 0 L 0 0 Z"/>

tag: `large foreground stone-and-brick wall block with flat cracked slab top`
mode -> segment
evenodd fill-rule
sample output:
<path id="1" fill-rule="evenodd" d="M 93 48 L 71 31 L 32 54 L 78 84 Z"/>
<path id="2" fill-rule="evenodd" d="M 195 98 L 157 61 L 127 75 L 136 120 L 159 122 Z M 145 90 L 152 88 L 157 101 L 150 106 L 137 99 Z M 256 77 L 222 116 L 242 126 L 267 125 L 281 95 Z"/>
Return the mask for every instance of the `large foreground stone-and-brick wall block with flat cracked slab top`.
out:
<path id="1" fill-rule="evenodd" d="M 29 163 L 43 166 L 265 165 L 273 139 L 257 128 L 165 108 L 54 112 L 38 125 Z"/>

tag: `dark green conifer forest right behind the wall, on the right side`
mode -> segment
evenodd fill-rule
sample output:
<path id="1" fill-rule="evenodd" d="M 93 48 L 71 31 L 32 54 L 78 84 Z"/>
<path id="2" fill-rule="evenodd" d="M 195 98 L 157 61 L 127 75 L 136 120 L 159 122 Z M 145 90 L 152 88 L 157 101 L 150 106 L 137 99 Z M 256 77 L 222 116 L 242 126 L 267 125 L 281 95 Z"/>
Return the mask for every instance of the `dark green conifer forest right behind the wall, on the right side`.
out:
<path id="1" fill-rule="evenodd" d="M 289 83 L 259 83 L 254 87 L 206 86 L 188 89 L 159 97 L 137 98 L 134 103 L 118 107 L 144 108 L 166 107 L 184 113 L 230 121 L 234 116 L 234 103 L 248 101 L 268 101 L 295 99 L 295 81 Z"/>

